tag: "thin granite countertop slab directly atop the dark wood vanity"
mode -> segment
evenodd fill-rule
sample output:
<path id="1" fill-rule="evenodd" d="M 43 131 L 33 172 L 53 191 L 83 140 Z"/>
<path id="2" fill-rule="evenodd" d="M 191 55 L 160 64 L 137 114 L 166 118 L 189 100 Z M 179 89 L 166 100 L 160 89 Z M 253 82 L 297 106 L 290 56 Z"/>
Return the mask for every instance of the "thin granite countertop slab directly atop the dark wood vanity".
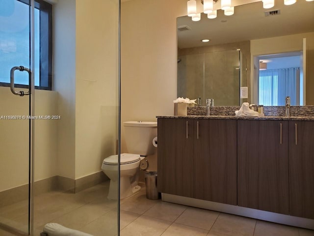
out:
<path id="1" fill-rule="evenodd" d="M 236 117 L 236 116 L 157 116 L 157 118 L 185 118 L 185 119 L 253 119 L 253 120 L 314 120 L 314 117 Z"/>

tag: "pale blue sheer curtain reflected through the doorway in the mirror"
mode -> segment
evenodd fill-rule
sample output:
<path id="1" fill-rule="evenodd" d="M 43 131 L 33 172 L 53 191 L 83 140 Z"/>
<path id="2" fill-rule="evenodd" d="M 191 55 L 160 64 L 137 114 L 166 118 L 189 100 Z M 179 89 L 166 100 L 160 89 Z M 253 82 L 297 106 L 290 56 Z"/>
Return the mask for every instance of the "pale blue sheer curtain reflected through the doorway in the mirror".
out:
<path id="1" fill-rule="evenodd" d="M 260 71 L 259 104 L 284 106 L 290 96 L 291 105 L 300 104 L 300 69 L 273 69 Z"/>

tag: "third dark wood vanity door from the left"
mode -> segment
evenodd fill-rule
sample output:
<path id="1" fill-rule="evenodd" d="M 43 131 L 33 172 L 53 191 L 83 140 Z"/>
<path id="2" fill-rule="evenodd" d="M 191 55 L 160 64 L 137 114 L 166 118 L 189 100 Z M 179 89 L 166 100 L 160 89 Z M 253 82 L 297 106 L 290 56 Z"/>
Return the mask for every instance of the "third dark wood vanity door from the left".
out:
<path id="1" fill-rule="evenodd" d="M 288 121 L 238 120 L 237 153 L 238 206 L 288 214 Z"/>

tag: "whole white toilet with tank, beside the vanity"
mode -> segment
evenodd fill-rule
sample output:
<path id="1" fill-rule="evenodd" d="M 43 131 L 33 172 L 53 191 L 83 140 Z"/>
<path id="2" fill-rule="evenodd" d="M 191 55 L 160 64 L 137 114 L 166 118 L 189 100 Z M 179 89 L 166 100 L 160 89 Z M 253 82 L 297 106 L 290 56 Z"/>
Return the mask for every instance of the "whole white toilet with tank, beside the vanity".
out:
<path id="1" fill-rule="evenodd" d="M 157 122 L 123 122 L 129 153 L 120 155 L 120 199 L 128 198 L 141 190 L 138 186 L 139 163 L 154 153 L 153 139 L 157 136 Z M 118 198 L 118 155 L 106 157 L 102 170 L 110 178 L 108 199 Z"/>

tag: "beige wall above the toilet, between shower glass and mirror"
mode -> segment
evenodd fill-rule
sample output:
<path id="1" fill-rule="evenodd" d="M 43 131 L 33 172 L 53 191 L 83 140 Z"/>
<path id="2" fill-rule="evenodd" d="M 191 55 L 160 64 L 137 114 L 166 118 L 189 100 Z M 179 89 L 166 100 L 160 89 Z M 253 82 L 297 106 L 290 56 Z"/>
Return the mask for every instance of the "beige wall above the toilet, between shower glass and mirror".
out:
<path id="1" fill-rule="evenodd" d="M 177 97 L 177 17 L 186 0 L 121 5 L 121 122 L 172 115 Z M 127 148 L 122 126 L 122 152 Z"/>

